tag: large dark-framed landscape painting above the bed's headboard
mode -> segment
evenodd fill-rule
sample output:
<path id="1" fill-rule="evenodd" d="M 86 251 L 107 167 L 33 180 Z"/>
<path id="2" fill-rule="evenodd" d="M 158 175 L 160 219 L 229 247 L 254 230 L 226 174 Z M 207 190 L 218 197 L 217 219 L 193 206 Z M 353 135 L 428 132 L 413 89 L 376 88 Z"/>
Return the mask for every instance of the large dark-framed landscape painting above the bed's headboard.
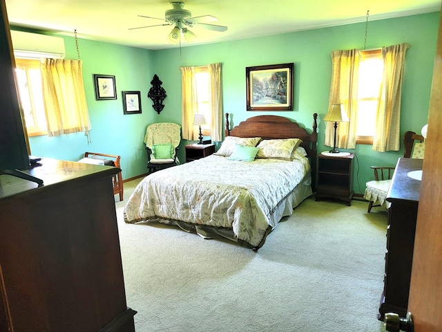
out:
<path id="1" fill-rule="evenodd" d="M 293 111 L 294 64 L 246 67 L 247 111 Z"/>

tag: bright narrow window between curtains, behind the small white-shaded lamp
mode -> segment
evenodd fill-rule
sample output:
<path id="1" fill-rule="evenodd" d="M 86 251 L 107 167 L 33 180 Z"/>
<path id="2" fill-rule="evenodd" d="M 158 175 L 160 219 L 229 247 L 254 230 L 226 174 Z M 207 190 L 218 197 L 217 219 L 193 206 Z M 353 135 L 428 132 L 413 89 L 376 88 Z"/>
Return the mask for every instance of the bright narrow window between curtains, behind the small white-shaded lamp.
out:
<path id="1" fill-rule="evenodd" d="M 196 67 L 195 68 L 196 81 L 196 102 L 198 113 L 203 114 L 207 124 L 201 126 L 201 131 L 204 136 L 211 135 L 212 113 L 210 109 L 210 74 L 209 68 Z"/>

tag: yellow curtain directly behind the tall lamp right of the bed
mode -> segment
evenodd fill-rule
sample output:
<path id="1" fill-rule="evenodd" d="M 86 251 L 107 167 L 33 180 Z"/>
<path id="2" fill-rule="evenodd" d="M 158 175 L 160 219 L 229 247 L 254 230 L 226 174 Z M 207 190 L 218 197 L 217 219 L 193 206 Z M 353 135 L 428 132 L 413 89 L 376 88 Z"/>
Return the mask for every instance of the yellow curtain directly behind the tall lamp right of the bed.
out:
<path id="1" fill-rule="evenodd" d="M 336 147 L 356 147 L 356 124 L 358 104 L 358 75 L 360 54 L 358 50 L 334 50 L 332 52 L 332 84 L 330 84 L 329 105 L 343 104 L 349 122 L 338 122 Z M 334 122 L 325 124 L 324 145 L 333 147 Z"/>

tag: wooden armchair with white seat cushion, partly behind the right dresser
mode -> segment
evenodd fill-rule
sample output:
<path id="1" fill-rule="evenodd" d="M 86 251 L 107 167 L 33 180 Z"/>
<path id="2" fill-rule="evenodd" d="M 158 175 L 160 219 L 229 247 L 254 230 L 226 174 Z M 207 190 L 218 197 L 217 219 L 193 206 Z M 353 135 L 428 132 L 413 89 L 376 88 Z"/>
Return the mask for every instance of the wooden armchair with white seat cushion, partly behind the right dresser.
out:
<path id="1" fill-rule="evenodd" d="M 414 131 L 405 131 L 403 136 L 404 153 L 403 158 L 423 159 L 425 149 L 425 138 Z M 374 206 L 386 204 L 387 192 L 390 188 L 391 177 L 395 167 L 372 166 L 374 170 L 374 180 L 365 183 L 364 199 L 369 201 L 368 213 Z"/>

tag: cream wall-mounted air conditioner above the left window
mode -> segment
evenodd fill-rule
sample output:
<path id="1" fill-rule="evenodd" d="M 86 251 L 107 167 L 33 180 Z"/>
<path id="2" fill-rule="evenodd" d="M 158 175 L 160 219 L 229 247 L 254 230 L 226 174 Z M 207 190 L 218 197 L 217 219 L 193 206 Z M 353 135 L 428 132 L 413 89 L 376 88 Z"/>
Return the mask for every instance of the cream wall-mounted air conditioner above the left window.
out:
<path id="1" fill-rule="evenodd" d="M 12 48 L 15 57 L 26 59 L 64 59 L 64 39 L 38 33 L 11 30 Z"/>

